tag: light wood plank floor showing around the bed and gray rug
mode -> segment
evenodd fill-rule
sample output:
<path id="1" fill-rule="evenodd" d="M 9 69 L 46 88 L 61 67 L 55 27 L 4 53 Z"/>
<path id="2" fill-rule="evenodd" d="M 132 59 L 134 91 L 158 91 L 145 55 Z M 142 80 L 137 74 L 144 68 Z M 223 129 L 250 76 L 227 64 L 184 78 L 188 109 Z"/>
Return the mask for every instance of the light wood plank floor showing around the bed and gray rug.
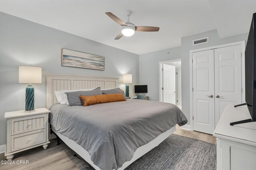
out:
<path id="1" fill-rule="evenodd" d="M 176 125 L 174 134 L 204 140 L 216 144 L 216 138 L 210 134 L 196 131 L 183 130 Z M 74 151 L 68 149 L 68 146 L 61 141 L 57 144 L 56 139 L 50 140 L 46 150 L 42 146 L 14 154 L 15 164 L 0 164 L 0 170 L 81 170 L 87 167 L 86 163 L 74 156 Z M 0 154 L 0 160 L 6 160 L 3 154 Z M 28 160 L 29 164 L 16 164 L 17 160 Z"/>

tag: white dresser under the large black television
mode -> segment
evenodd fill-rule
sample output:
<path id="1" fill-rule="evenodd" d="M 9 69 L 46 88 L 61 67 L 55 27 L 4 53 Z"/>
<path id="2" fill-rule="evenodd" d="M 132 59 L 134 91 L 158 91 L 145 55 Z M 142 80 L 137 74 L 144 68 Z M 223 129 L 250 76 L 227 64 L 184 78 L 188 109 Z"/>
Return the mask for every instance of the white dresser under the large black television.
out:
<path id="1" fill-rule="evenodd" d="M 213 134 L 217 137 L 217 170 L 256 170 L 256 122 L 230 126 L 250 118 L 247 106 L 226 106 Z"/>

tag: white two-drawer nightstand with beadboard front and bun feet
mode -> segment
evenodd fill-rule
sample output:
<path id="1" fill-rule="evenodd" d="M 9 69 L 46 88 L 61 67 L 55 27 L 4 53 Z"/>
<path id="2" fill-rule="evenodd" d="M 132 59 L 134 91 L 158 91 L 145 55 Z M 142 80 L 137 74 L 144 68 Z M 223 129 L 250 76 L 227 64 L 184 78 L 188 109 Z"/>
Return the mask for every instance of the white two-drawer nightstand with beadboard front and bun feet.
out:
<path id="1" fill-rule="evenodd" d="M 35 109 L 33 112 L 14 111 L 4 113 L 7 119 L 7 144 L 5 156 L 12 160 L 15 153 L 37 146 L 47 148 L 48 114 L 45 108 Z"/>

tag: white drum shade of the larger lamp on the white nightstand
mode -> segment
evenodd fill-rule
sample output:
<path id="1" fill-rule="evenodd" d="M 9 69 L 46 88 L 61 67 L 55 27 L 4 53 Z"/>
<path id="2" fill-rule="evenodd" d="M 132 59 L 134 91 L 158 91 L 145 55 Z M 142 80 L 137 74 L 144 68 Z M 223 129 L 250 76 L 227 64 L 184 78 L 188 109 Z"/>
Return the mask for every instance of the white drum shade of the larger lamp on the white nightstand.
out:
<path id="1" fill-rule="evenodd" d="M 19 83 L 42 83 L 42 68 L 19 66 Z"/>

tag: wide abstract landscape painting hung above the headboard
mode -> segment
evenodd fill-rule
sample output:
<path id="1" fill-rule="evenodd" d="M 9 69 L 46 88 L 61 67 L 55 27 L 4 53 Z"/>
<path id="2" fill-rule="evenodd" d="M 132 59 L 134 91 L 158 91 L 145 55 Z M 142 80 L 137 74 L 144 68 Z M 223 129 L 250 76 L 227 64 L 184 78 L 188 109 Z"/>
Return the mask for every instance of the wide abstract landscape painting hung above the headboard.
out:
<path id="1" fill-rule="evenodd" d="M 62 66 L 105 69 L 105 57 L 62 48 Z"/>

